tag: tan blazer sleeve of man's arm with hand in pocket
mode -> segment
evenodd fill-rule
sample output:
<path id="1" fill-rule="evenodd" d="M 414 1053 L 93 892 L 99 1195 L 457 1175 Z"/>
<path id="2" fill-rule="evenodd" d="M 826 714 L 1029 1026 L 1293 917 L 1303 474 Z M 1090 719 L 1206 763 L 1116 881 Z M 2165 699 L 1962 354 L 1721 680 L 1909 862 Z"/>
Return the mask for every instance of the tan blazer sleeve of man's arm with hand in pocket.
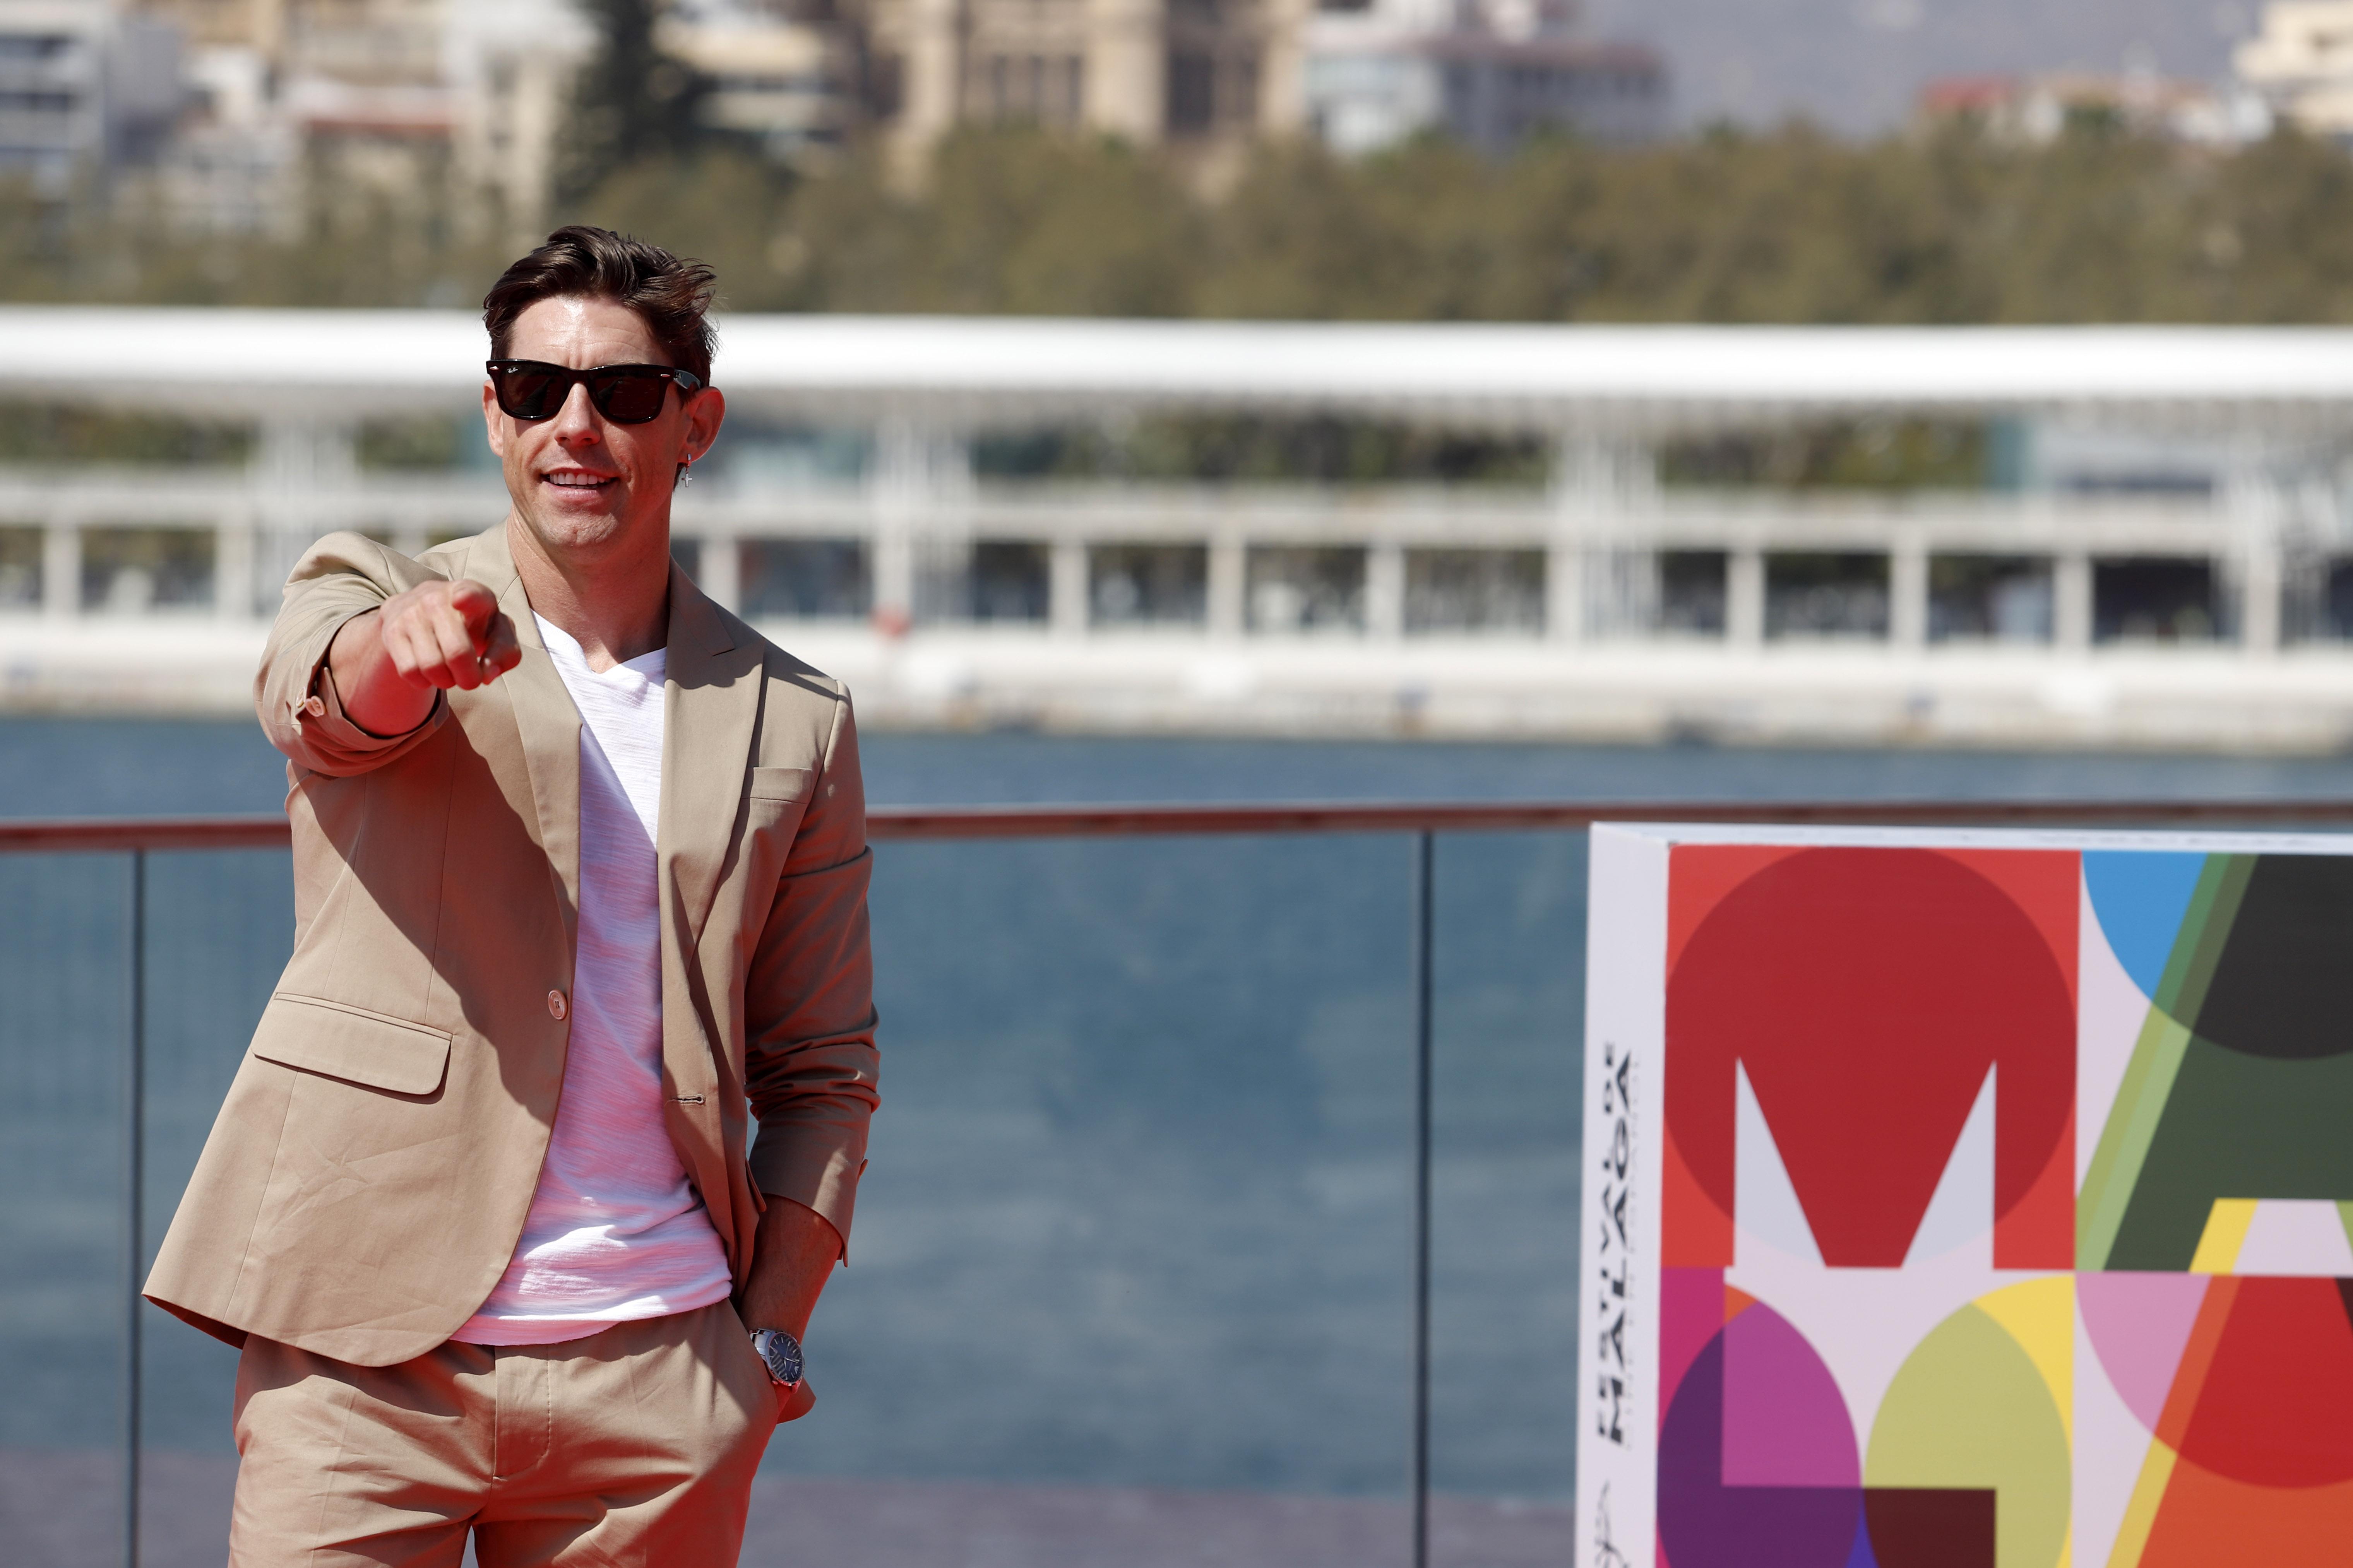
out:
<path id="1" fill-rule="evenodd" d="M 878 1105 L 871 870 L 859 733 L 842 691 L 744 983 L 744 1086 L 760 1121 L 753 1187 L 821 1213 L 845 1253 Z"/>

